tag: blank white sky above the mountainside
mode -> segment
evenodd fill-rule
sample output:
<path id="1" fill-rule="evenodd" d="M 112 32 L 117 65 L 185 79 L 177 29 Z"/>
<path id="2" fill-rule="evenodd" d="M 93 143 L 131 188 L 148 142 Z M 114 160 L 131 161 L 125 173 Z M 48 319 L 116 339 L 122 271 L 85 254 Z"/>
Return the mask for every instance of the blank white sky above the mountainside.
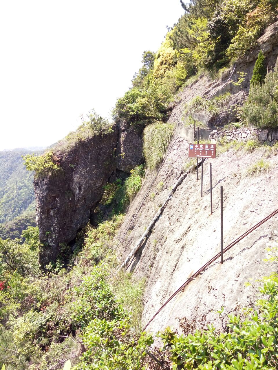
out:
<path id="1" fill-rule="evenodd" d="M 0 150 L 47 146 L 92 108 L 109 118 L 179 0 L 0 2 Z"/>

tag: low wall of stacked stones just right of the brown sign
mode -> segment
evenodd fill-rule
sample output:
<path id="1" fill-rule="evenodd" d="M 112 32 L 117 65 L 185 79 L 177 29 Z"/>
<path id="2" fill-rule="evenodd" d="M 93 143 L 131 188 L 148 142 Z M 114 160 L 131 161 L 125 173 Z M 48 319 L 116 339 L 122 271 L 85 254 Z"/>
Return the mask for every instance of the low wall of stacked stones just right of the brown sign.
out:
<path id="1" fill-rule="evenodd" d="M 258 129 L 258 128 L 243 128 L 235 130 L 212 130 L 209 139 L 219 140 L 226 136 L 228 141 L 237 140 L 238 142 L 257 138 L 260 142 L 274 144 L 278 140 L 277 129 Z"/>

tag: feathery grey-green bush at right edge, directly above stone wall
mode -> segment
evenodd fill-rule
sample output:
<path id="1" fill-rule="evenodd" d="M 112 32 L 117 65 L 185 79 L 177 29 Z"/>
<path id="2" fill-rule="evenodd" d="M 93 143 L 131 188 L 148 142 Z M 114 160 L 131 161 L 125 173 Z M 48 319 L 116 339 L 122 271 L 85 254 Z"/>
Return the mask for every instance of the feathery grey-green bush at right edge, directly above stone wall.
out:
<path id="1" fill-rule="evenodd" d="M 251 85 L 242 107 L 242 120 L 258 128 L 278 128 L 278 68 L 269 72 L 264 83 Z"/>

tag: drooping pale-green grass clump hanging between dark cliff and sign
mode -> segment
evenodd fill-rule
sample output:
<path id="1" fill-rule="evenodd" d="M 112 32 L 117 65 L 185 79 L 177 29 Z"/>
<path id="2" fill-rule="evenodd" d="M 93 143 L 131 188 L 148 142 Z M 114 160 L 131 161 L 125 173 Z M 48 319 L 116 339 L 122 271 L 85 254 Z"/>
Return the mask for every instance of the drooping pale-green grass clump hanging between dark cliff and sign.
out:
<path id="1" fill-rule="evenodd" d="M 143 131 L 143 154 L 148 168 L 155 169 L 161 163 L 174 132 L 171 123 L 157 122 Z"/>

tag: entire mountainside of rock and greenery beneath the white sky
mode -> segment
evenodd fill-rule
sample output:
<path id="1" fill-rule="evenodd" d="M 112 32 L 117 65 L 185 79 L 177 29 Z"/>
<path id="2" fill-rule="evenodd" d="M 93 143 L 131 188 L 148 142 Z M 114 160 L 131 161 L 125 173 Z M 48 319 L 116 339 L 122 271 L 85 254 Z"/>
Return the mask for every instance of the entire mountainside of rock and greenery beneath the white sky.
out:
<path id="1" fill-rule="evenodd" d="M 34 174 L 39 225 L 0 239 L 7 370 L 278 367 L 278 1 L 181 3 L 115 122 L 91 112 L 25 153 L 29 174 L 22 153 L 3 154 L 3 219 L 31 207 Z M 193 144 L 194 121 L 216 143 L 202 197 L 183 135 Z M 273 215 L 182 288 L 220 250 L 220 186 L 225 246 Z"/>

